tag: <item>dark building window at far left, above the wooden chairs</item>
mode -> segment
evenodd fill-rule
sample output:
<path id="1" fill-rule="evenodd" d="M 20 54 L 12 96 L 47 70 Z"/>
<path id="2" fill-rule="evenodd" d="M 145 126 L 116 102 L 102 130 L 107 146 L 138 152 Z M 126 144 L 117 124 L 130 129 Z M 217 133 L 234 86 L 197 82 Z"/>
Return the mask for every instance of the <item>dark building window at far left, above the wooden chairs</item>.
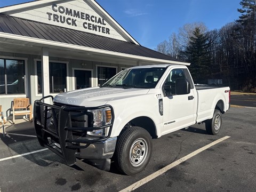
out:
<path id="1" fill-rule="evenodd" d="M 25 94 L 25 61 L 0 59 L 0 94 Z"/>

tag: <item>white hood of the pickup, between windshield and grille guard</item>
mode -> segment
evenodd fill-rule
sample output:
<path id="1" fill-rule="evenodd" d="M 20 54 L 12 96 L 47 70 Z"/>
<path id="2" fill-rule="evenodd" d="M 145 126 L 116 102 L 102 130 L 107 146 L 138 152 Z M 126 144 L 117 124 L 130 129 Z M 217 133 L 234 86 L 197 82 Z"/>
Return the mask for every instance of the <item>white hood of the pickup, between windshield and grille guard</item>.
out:
<path id="1" fill-rule="evenodd" d="M 96 107 L 106 105 L 109 101 L 145 95 L 148 91 L 149 89 L 92 87 L 60 93 L 55 96 L 53 102 L 64 105 Z"/>

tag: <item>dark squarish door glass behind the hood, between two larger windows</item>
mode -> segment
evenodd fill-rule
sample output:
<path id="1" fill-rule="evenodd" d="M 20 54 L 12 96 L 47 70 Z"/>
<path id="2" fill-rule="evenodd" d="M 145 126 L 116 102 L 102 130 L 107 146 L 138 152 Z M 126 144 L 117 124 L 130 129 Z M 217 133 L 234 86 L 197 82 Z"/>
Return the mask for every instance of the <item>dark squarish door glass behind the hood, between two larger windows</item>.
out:
<path id="1" fill-rule="evenodd" d="M 88 70 L 74 70 L 75 89 L 91 87 L 92 72 Z"/>

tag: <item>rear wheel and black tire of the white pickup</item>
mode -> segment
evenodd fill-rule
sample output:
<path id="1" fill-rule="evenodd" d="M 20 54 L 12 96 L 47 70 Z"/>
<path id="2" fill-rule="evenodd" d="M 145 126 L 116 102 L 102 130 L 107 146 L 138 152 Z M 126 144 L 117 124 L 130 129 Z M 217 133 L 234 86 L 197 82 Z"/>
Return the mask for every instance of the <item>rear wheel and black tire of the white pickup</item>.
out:
<path id="1" fill-rule="evenodd" d="M 214 110 L 212 119 L 205 121 L 205 129 L 209 134 L 218 134 L 222 124 L 222 114 L 218 109 Z"/>

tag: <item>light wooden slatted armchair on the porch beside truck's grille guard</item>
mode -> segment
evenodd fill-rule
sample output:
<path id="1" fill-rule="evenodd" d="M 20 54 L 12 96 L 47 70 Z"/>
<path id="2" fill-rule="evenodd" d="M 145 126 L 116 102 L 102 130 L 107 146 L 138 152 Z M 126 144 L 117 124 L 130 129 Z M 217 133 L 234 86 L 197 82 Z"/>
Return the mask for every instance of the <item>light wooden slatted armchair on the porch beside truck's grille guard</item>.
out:
<path id="1" fill-rule="evenodd" d="M 29 104 L 29 98 L 15 98 L 12 106 L 13 124 L 15 115 L 29 115 L 29 121 L 32 122 L 32 105 Z"/>

